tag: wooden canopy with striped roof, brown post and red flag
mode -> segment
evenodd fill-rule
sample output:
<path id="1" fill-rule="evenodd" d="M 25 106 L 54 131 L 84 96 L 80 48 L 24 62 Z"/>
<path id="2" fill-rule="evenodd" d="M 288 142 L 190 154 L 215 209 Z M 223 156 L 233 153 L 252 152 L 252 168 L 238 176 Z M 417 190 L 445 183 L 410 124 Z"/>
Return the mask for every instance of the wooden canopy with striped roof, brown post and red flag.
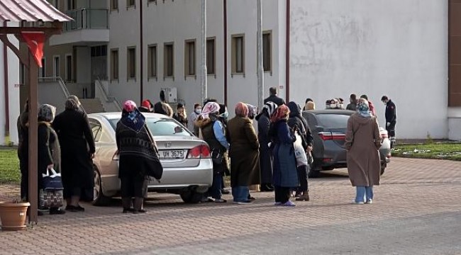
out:
<path id="1" fill-rule="evenodd" d="M 62 23 L 71 20 L 45 0 L 0 1 L 0 40 L 18 56 L 21 63 L 29 70 L 28 190 L 30 208 L 28 218 L 30 223 L 35 222 L 35 224 L 38 222 L 37 71 L 38 66 L 41 65 L 38 57 L 41 58 L 43 55 L 43 43 L 50 36 L 60 34 Z M 15 35 L 19 41 L 28 43 L 30 49 L 28 57 L 21 57 L 18 47 L 9 41 L 8 35 Z"/>

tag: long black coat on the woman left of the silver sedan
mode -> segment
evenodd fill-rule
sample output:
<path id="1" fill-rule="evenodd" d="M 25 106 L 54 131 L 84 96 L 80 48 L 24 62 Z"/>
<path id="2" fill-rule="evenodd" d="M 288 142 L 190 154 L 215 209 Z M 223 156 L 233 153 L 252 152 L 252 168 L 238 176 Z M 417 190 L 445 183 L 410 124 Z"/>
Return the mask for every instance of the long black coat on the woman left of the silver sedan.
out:
<path id="1" fill-rule="evenodd" d="M 94 139 L 87 114 L 65 110 L 52 123 L 60 140 L 62 155 L 62 185 L 67 190 L 92 189 L 94 169 Z"/>

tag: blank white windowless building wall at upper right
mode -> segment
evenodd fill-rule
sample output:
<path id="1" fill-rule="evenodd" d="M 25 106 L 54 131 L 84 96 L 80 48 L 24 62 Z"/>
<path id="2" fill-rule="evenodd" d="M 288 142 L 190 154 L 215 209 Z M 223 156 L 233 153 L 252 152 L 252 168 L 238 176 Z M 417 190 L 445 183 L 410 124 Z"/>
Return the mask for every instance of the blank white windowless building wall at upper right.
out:
<path id="1" fill-rule="evenodd" d="M 397 109 L 397 137 L 448 137 L 446 0 L 291 1 L 290 98 L 323 108 L 367 94 Z"/>

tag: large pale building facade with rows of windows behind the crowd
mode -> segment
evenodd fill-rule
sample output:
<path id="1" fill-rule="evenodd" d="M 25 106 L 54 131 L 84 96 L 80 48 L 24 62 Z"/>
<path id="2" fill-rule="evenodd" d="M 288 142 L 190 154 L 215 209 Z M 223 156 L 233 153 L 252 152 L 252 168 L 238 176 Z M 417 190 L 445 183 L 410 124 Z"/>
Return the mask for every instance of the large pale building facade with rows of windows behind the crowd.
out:
<path id="1" fill-rule="evenodd" d="M 142 6 L 140 6 L 142 3 Z M 43 76 L 79 96 L 101 81 L 118 101 L 201 101 L 201 1 L 52 1 L 74 17 L 50 39 Z M 397 106 L 398 138 L 461 140 L 458 0 L 262 1 L 265 93 L 303 105 L 367 94 L 384 125 Z M 450 13 L 450 15 L 449 15 Z M 257 1 L 207 1 L 208 96 L 257 104 Z M 450 27 L 450 33 L 449 28 Z M 141 33 L 142 31 L 142 33 Z M 450 44 L 449 44 L 450 41 Z M 450 45 L 450 47 L 449 47 Z M 450 62 L 449 62 L 450 59 Z M 173 90 L 174 91 L 174 90 Z"/>

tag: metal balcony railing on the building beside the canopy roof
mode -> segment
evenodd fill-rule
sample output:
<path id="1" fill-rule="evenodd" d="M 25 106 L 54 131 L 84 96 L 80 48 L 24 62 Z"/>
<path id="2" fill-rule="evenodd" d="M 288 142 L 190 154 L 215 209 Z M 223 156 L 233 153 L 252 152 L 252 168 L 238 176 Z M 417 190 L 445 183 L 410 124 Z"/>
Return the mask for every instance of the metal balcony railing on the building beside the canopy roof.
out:
<path id="1" fill-rule="evenodd" d="M 104 8 L 80 8 L 66 11 L 72 21 L 67 21 L 62 30 L 109 29 L 109 10 Z"/>

